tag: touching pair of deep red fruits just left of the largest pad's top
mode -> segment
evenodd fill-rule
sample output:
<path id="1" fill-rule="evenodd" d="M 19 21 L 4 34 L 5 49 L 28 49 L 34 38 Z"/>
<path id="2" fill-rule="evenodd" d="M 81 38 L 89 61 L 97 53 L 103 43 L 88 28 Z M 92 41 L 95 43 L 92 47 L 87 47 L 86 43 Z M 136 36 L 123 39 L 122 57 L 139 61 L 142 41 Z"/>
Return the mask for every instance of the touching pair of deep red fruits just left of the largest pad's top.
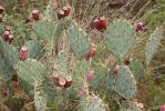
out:
<path id="1" fill-rule="evenodd" d="M 97 31 L 101 31 L 101 32 L 106 30 L 106 18 L 105 17 L 101 17 L 101 18 L 94 20 L 94 28 Z"/>

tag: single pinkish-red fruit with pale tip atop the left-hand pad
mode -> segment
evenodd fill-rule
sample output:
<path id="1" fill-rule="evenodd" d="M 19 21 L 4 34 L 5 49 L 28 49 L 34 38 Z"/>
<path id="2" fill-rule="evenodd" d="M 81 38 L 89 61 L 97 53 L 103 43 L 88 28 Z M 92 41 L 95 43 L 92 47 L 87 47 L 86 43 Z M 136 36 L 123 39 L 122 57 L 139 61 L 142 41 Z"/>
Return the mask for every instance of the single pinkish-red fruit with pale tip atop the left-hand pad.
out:
<path id="1" fill-rule="evenodd" d="M 20 57 L 20 60 L 24 61 L 28 59 L 29 57 L 29 52 L 28 52 L 28 49 L 27 47 L 22 47 L 19 51 L 19 57 Z"/>

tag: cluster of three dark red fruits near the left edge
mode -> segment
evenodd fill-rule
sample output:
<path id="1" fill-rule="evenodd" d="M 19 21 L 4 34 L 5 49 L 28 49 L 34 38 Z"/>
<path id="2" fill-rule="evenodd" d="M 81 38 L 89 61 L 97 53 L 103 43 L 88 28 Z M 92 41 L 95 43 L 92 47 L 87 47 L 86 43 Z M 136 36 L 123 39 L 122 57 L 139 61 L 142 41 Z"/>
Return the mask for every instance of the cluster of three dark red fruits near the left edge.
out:
<path id="1" fill-rule="evenodd" d="M 3 29 L 2 39 L 8 43 L 11 43 L 13 41 L 13 36 L 10 32 L 10 27 L 9 26 L 4 27 L 4 29 Z"/>

